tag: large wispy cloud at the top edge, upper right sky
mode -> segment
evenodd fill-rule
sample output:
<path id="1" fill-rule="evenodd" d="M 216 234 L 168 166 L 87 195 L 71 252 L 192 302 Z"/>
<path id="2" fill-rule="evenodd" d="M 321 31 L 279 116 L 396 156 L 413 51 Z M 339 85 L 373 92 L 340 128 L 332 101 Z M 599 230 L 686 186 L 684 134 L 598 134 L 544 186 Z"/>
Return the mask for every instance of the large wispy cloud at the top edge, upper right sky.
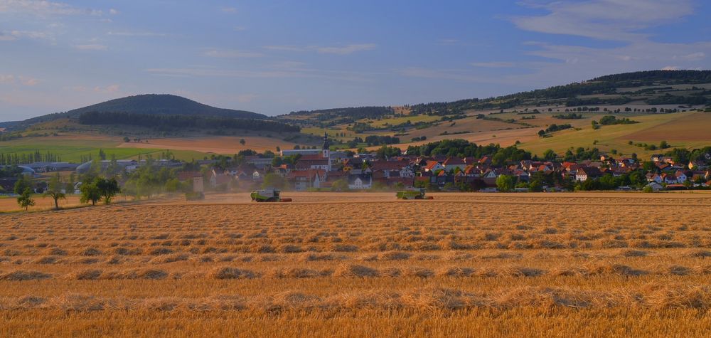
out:
<path id="1" fill-rule="evenodd" d="M 513 23 L 525 31 L 584 36 L 608 41 L 638 41 L 638 31 L 693 14 L 690 0 L 589 0 L 524 2 L 543 9 L 544 16 L 516 16 Z"/>

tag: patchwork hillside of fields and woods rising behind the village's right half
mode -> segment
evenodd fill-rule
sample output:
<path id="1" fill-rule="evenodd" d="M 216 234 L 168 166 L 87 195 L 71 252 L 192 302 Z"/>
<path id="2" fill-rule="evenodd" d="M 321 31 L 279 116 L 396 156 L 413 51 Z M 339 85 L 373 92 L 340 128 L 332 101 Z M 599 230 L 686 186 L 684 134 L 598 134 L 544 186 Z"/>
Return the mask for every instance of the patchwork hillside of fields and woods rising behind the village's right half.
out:
<path id="1" fill-rule="evenodd" d="M 461 138 L 480 144 L 518 143 L 539 154 L 545 149 L 564 153 L 570 147 L 647 154 L 653 150 L 629 141 L 647 144 L 647 148 L 661 140 L 674 141 L 673 147 L 711 144 L 711 135 L 697 130 L 708 126 L 709 114 L 693 113 L 708 110 L 709 105 L 711 71 L 653 70 L 484 99 L 292 112 L 277 118 L 300 125 L 302 132 L 326 132 L 339 148 L 375 149 L 390 144 L 407 149 Z M 572 114 L 574 118 L 567 118 Z M 592 121 L 609 115 L 638 123 L 593 129 Z M 693 120 L 699 123 L 690 123 Z M 552 125 L 570 128 L 545 132 Z M 545 137 L 539 137 L 540 130 Z M 685 137 L 680 139 L 680 134 Z"/>

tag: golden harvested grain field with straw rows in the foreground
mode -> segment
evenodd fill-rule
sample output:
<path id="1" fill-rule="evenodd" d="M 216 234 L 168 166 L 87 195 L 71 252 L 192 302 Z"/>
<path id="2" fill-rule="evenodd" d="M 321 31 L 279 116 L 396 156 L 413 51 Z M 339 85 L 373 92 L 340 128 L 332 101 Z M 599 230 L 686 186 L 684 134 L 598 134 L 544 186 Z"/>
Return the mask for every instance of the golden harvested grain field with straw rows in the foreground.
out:
<path id="1" fill-rule="evenodd" d="M 4 336 L 711 330 L 711 194 L 246 194 L 0 215 Z"/>

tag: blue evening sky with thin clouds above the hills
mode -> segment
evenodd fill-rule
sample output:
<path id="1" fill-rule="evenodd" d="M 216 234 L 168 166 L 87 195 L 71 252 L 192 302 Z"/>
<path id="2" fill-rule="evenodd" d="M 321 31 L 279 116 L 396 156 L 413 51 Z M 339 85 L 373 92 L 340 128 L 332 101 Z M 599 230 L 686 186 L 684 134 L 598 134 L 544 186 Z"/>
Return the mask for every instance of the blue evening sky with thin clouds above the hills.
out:
<path id="1" fill-rule="evenodd" d="M 711 69 L 705 0 L 0 0 L 0 121 L 118 97 L 296 110 Z"/>

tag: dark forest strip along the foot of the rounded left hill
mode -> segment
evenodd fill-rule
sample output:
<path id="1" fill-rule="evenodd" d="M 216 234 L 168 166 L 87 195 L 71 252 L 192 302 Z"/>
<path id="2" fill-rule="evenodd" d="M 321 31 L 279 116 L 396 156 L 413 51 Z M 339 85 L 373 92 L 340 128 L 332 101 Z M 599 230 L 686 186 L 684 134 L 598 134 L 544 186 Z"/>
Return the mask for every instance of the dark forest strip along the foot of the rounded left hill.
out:
<path id="1" fill-rule="evenodd" d="M 157 130 L 171 128 L 241 129 L 267 132 L 300 132 L 301 128 L 282 122 L 199 115 L 146 115 L 134 112 L 84 112 L 82 125 L 134 125 Z"/>

